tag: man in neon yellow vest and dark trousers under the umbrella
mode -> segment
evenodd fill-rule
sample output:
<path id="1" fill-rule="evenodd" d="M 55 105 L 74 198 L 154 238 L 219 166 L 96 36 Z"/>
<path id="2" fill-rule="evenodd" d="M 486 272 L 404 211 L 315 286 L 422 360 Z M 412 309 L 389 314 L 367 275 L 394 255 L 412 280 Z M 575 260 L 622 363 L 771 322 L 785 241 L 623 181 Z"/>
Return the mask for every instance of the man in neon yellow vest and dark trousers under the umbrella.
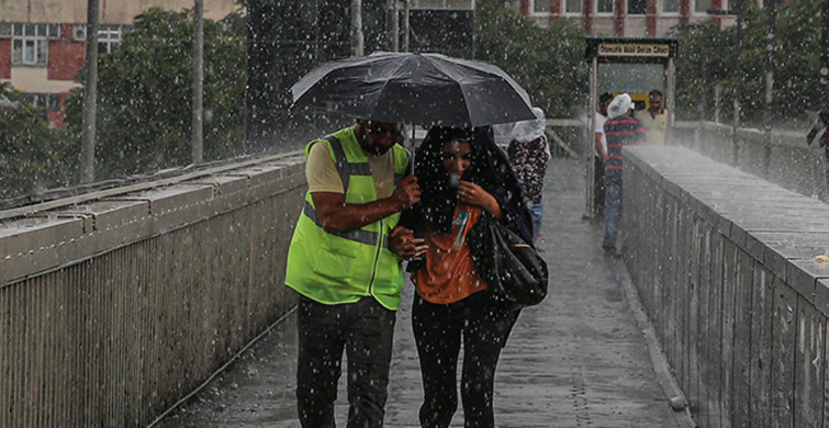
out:
<path id="1" fill-rule="evenodd" d="M 288 252 L 299 293 L 296 398 L 303 427 L 334 427 L 345 350 L 348 427 L 382 427 L 401 259 L 425 251 L 395 227 L 421 200 L 397 124 L 357 120 L 305 147 L 309 191 Z M 396 185 L 395 185 L 396 183 Z"/>

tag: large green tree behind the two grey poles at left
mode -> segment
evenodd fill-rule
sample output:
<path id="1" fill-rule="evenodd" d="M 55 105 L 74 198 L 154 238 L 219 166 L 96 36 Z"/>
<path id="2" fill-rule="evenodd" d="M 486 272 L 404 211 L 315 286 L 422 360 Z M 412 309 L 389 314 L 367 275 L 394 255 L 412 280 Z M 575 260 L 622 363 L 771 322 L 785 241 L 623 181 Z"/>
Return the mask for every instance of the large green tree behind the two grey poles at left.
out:
<path id="1" fill-rule="evenodd" d="M 204 20 L 204 158 L 244 151 L 246 40 L 244 18 Z M 121 47 L 99 58 L 98 179 L 190 164 L 192 11 L 149 9 Z M 82 90 L 67 108 L 81 126 Z"/>

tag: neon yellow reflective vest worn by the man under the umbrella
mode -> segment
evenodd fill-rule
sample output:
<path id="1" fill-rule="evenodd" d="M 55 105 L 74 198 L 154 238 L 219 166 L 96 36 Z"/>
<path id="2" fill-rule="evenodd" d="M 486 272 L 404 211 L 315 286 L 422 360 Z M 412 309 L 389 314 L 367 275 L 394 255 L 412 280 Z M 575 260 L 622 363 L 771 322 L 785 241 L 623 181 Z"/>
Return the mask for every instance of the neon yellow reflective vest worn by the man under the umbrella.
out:
<path id="1" fill-rule="evenodd" d="M 314 144 L 327 144 L 339 171 L 346 203 L 377 201 L 368 157 L 355 135 L 356 126 L 305 146 L 305 159 Z M 399 144 L 392 148 L 394 182 L 403 177 L 408 154 Z M 401 260 L 389 249 L 389 235 L 400 213 L 359 229 L 327 233 L 316 216 L 311 192 L 293 232 L 288 250 L 285 284 L 300 294 L 325 304 L 357 302 L 371 295 L 384 307 L 396 311 L 403 290 Z"/>

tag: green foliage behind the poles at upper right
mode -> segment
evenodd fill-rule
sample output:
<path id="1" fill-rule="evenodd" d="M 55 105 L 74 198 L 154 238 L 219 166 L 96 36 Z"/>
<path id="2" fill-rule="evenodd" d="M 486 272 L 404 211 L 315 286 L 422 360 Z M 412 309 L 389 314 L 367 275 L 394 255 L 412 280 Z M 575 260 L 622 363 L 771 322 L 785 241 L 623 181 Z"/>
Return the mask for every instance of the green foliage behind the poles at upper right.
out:
<path id="1" fill-rule="evenodd" d="M 778 5 L 773 53 L 774 91 L 772 117 L 775 122 L 803 120 L 805 110 L 820 104 L 819 3 L 793 0 Z M 741 121 L 760 126 L 765 109 L 766 33 L 769 10 L 750 7 L 743 14 Z M 715 86 L 722 87 L 720 121 L 732 114 L 737 74 L 737 27 L 719 29 L 714 20 L 701 27 L 677 27 L 676 110 L 681 119 L 699 117 L 699 103 L 707 100 L 705 119 L 713 119 Z"/>

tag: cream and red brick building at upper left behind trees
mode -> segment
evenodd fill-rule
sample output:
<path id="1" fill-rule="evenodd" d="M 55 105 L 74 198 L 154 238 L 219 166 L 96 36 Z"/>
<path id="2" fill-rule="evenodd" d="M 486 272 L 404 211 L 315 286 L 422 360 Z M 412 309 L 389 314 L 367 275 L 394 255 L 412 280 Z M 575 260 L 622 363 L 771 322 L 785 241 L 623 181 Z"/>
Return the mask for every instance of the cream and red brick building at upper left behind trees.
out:
<path id="1" fill-rule="evenodd" d="M 116 49 L 143 11 L 192 9 L 193 0 L 99 0 L 98 52 Z M 204 0 L 204 18 L 233 12 L 234 0 Z M 87 0 L 0 0 L 0 82 L 29 94 L 54 126 L 86 55 Z"/>

